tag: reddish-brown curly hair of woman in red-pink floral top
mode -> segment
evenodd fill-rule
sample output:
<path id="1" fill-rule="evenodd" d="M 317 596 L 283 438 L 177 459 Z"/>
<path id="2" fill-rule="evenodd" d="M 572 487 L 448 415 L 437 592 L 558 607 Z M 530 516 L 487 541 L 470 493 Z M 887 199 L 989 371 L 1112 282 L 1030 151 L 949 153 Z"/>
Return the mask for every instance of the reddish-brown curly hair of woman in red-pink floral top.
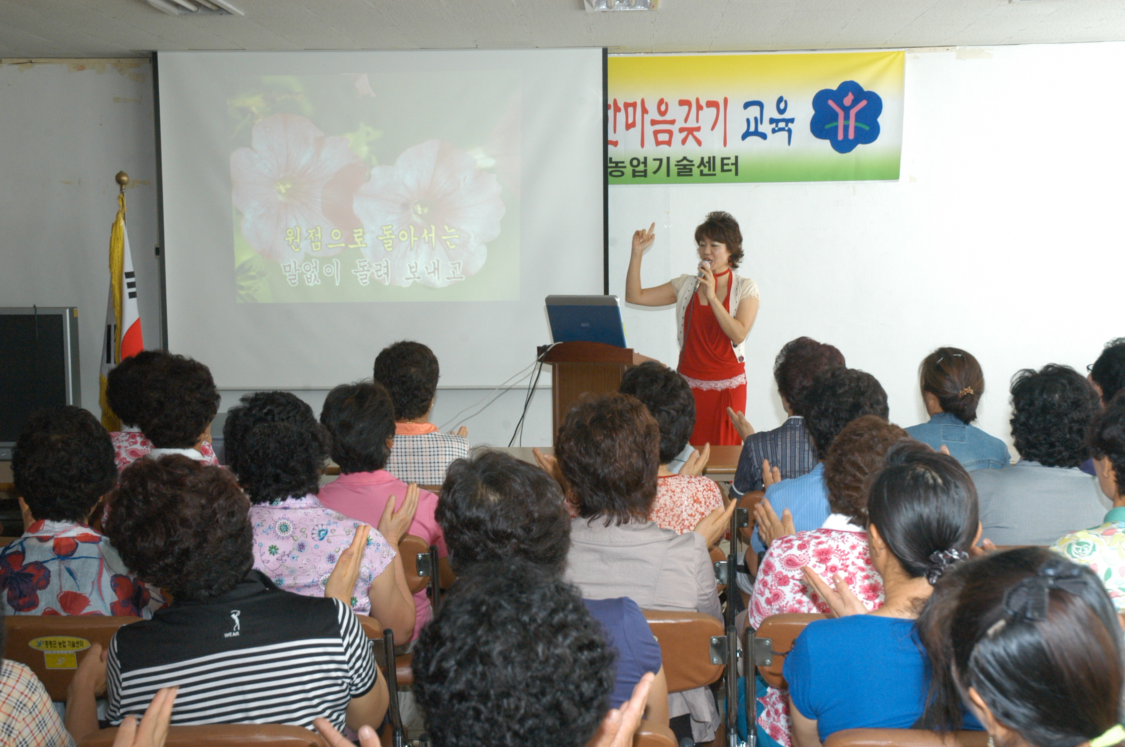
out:
<path id="1" fill-rule="evenodd" d="M 844 426 L 825 457 L 828 506 L 850 523 L 867 526 L 867 490 L 883 468 L 886 450 L 910 434 L 879 415 L 862 415 Z"/>

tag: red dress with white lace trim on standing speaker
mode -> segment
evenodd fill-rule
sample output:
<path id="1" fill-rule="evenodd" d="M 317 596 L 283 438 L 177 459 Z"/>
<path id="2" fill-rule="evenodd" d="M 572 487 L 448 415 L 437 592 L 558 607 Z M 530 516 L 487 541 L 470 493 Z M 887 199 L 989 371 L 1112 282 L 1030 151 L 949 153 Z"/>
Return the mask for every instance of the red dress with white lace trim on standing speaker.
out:
<path id="1" fill-rule="evenodd" d="M 714 276 L 716 282 L 723 276 L 728 279 L 722 307 L 729 312 L 734 276 L 728 269 Z M 700 291 L 695 292 L 684 312 L 680 372 L 687 379 L 695 397 L 692 446 L 740 446 L 742 439 L 731 425 L 727 407 L 746 411 L 746 366 L 735 357 L 735 348 L 719 326 L 714 309 L 700 302 Z"/>

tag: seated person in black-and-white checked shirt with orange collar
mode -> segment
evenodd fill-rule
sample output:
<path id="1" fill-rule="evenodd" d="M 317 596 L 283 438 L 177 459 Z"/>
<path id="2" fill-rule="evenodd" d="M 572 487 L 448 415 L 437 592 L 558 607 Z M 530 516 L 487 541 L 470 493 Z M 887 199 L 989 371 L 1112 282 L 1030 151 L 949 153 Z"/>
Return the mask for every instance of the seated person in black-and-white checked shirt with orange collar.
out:
<path id="1" fill-rule="evenodd" d="M 454 459 L 469 456 L 469 430 L 442 433 L 430 422 L 438 358 L 421 342 L 396 342 L 375 359 L 375 380 L 395 403 L 395 446 L 387 471 L 404 483 L 441 485 Z"/>

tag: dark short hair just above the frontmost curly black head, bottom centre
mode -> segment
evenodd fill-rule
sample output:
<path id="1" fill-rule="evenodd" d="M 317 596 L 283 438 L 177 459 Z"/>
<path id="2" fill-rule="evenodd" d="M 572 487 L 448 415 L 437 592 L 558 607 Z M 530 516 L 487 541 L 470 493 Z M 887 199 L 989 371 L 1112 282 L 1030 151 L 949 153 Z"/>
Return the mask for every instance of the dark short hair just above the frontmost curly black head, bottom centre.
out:
<path id="1" fill-rule="evenodd" d="M 457 573 L 519 557 L 561 576 L 570 549 L 570 514 L 555 478 L 500 451 L 449 466 L 435 513 Z"/>

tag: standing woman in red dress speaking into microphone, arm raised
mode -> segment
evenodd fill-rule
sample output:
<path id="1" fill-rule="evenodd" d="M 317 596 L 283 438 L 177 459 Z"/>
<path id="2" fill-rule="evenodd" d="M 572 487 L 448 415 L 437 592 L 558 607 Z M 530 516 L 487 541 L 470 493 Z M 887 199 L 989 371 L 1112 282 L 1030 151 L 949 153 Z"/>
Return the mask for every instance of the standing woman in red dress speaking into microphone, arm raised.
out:
<path id="1" fill-rule="evenodd" d="M 744 341 L 758 314 L 758 287 L 734 270 L 742 259 L 742 234 L 729 213 L 709 213 L 695 228 L 698 276 L 682 274 L 655 288 L 641 288 L 640 262 L 652 245 L 656 224 L 633 234 L 626 277 L 626 302 L 641 306 L 676 305 L 680 342 L 677 370 L 695 396 L 691 443 L 739 446 L 727 408 L 746 411 Z"/>

